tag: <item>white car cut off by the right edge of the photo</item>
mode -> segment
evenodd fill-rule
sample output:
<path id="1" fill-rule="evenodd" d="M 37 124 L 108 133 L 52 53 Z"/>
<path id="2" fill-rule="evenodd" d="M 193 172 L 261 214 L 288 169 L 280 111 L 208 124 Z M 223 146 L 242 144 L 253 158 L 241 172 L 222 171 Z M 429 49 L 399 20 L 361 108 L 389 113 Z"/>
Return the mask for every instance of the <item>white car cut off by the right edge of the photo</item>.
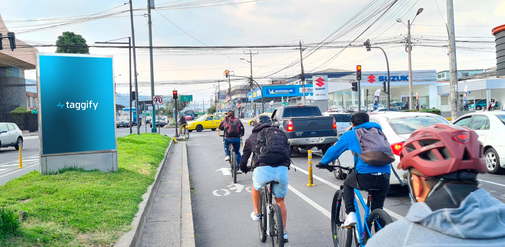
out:
<path id="1" fill-rule="evenodd" d="M 484 111 L 465 114 L 453 125 L 468 127 L 479 135 L 484 146 L 487 172 L 500 174 L 505 172 L 505 112 Z"/>

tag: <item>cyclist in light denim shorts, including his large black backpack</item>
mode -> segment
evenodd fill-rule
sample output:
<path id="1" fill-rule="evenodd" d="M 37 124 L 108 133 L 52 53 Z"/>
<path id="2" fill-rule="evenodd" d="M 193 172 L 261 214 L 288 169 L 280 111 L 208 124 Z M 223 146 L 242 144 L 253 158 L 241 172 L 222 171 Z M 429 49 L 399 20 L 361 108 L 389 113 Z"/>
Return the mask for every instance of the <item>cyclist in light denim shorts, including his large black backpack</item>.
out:
<path id="1" fill-rule="evenodd" d="M 258 115 L 254 122 L 252 134 L 245 140 L 243 157 L 240 162 L 240 169 L 247 173 L 249 166 L 247 161 L 252 154 L 252 164 L 255 169 L 252 173 L 252 204 L 254 211 L 251 213 L 251 219 L 260 220 L 260 198 L 261 188 L 267 182 L 277 181 L 272 184 L 272 191 L 275 196 L 275 202 L 279 205 L 282 215 L 282 224 L 284 229 L 284 241 L 288 241 L 286 231 L 287 209 L 284 198 L 287 193 L 289 181 L 288 167 L 290 165 L 291 148 L 287 136 L 283 130 L 277 126 L 272 126 L 272 119 L 267 114 Z"/>

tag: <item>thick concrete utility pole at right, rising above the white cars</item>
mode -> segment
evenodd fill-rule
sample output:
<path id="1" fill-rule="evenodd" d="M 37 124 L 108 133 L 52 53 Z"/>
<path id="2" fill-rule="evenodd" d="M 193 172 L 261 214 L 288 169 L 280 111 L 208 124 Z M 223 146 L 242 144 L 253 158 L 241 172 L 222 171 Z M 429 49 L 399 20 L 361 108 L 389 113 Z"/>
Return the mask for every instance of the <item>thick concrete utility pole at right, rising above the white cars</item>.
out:
<path id="1" fill-rule="evenodd" d="M 447 0 L 447 32 L 449 35 L 450 117 L 458 118 L 458 69 L 456 67 L 456 34 L 452 0 Z"/>

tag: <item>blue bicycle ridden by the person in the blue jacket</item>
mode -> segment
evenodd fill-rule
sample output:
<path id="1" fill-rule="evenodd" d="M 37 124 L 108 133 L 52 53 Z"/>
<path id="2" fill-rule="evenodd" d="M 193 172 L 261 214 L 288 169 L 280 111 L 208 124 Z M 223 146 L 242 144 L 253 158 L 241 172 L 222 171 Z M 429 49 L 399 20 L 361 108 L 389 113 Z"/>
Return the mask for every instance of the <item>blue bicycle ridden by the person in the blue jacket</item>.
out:
<path id="1" fill-rule="evenodd" d="M 340 168 L 347 170 L 349 174 L 353 170 L 351 167 L 340 165 L 316 165 L 316 167 L 320 169 L 328 169 L 329 171 Z M 353 239 L 356 246 L 364 247 L 367 240 L 371 238 L 372 235 L 382 229 L 385 225 L 393 222 L 391 216 L 382 209 L 374 209 L 370 212 L 372 194 L 375 191 L 378 191 L 378 189 L 366 190 L 366 192 L 368 192 L 368 197 L 367 202 L 365 203 L 365 200 L 361 196 L 361 192 L 354 189 L 354 206 L 356 208 L 356 219 L 358 223 L 355 226 L 347 227 L 343 225 L 345 217 L 347 216 L 345 213 L 345 206 L 343 205 L 343 186 L 340 186 L 340 190 L 335 192 L 333 201 L 331 202 L 331 232 L 335 247 L 350 247 Z M 360 201 L 360 204 L 365 211 L 363 223 L 357 199 Z"/>

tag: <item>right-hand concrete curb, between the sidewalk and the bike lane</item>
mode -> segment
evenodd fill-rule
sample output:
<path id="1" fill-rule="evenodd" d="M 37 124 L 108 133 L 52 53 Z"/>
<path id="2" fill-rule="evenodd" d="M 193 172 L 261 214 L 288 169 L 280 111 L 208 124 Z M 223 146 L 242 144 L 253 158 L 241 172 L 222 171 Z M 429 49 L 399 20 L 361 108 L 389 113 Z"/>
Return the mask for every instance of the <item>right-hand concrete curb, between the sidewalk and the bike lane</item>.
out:
<path id="1" fill-rule="evenodd" d="M 193 212 L 186 142 L 182 143 L 181 247 L 194 247 Z"/>

